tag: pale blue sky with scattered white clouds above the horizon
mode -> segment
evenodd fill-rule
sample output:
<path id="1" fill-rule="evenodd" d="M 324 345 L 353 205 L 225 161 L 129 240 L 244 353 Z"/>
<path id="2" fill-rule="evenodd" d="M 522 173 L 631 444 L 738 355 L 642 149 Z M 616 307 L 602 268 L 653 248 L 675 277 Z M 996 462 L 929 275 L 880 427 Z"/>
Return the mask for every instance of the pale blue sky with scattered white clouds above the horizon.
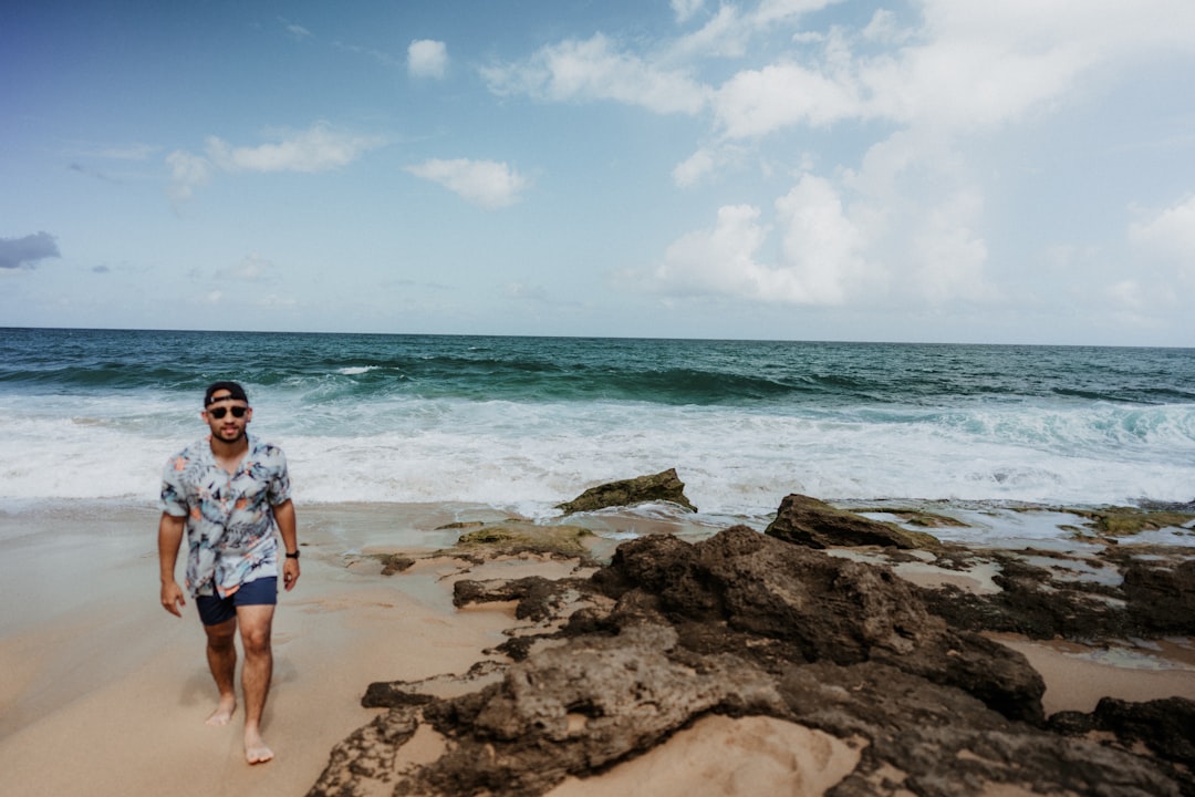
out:
<path id="1" fill-rule="evenodd" d="M 1195 345 L 1190 0 L 47 0 L 0 75 L 0 326 Z"/>

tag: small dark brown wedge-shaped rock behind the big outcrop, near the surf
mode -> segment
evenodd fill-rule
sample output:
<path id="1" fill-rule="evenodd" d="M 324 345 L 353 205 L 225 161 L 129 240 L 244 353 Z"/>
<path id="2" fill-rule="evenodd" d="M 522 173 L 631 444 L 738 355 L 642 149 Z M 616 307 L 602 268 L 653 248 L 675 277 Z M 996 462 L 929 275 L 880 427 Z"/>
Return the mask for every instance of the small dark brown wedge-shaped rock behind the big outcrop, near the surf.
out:
<path id="1" fill-rule="evenodd" d="M 809 496 L 790 495 L 780 502 L 776 520 L 768 525 L 768 537 L 814 548 L 878 545 L 896 548 L 936 548 L 938 539 L 925 532 L 912 532 L 895 523 L 836 509 Z"/>

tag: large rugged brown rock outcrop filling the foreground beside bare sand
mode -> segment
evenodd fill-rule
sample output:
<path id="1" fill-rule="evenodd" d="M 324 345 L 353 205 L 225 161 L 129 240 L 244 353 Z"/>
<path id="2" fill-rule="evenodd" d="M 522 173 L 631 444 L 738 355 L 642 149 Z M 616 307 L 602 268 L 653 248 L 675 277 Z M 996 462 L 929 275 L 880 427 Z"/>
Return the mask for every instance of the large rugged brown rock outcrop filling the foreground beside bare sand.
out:
<path id="1" fill-rule="evenodd" d="M 519 661 L 460 697 L 373 685 L 390 711 L 333 750 L 312 796 L 543 795 L 710 715 L 841 740 L 856 758 L 834 797 L 1195 793 L 1189 706 L 1101 704 L 1047 724 L 1019 654 L 951 627 L 890 569 L 744 527 L 633 540 L 589 578 L 458 582 L 458 605 L 488 600 L 517 600 L 543 629 Z M 419 734 L 442 752 L 404 758 Z"/>

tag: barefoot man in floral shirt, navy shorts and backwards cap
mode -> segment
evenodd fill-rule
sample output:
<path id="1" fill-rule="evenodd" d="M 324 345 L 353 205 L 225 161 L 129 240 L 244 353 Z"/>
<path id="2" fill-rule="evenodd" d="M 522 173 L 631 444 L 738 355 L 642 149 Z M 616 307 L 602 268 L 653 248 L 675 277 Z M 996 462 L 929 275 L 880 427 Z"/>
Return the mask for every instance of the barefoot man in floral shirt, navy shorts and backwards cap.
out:
<path id="1" fill-rule="evenodd" d="M 262 712 L 274 673 L 270 627 L 278 596 L 278 544 L 286 547 L 282 580 L 299 580 L 299 542 L 290 502 L 287 460 L 277 446 L 251 437 L 249 398 L 237 382 L 215 382 L 203 397 L 203 419 L 212 430 L 166 464 L 161 485 L 158 558 L 161 605 L 177 617 L 185 605 L 174 580 L 178 550 L 186 534 L 186 588 L 208 634 L 208 667 L 220 691 L 209 725 L 227 725 L 237 710 L 237 648 L 245 650 L 245 759 L 262 764 L 274 752 L 262 740 Z"/>

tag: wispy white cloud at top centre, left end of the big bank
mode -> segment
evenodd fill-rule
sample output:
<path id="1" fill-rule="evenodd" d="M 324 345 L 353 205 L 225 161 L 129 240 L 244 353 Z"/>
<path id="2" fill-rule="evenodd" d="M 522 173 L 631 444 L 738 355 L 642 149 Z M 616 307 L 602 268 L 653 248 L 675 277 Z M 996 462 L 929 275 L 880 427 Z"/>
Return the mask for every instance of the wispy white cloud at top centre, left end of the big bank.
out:
<path id="1" fill-rule="evenodd" d="M 601 33 L 545 47 L 527 61 L 482 69 L 490 91 L 553 102 L 607 99 L 657 114 L 697 114 L 707 90 L 680 69 L 664 69 L 613 49 Z"/>

